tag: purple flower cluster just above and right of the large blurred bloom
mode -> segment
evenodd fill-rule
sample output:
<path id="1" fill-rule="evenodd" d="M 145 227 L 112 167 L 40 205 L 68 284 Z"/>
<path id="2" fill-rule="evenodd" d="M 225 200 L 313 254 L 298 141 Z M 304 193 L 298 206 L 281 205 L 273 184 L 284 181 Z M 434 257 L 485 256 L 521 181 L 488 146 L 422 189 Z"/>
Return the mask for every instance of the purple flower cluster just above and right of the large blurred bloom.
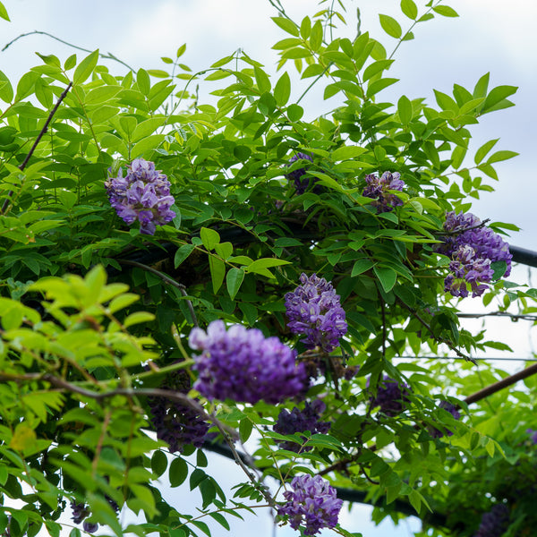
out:
<path id="1" fill-rule="evenodd" d="M 324 277 L 300 276 L 301 286 L 286 294 L 287 327 L 294 334 L 304 334 L 308 349 L 316 346 L 330 353 L 345 336 L 347 324 L 339 295 Z"/>

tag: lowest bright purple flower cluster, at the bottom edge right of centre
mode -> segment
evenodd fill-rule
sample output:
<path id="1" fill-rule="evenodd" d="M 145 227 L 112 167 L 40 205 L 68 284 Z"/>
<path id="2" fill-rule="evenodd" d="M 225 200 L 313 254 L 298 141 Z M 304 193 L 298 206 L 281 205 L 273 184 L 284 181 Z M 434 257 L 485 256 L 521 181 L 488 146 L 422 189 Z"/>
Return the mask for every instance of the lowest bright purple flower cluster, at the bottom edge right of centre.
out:
<path id="1" fill-rule="evenodd" d="M 304 524 L 304 535 L 315 535 L 322 528 L 336 526 L 343 500 L 337 498 L 336 490 L 326 479 L 301 475 L 293 479 L 291 486 L 294 490 L 284 492 L 287 502 L 278 508 L 277 514 L 288 516 L 294 530 Z"/>

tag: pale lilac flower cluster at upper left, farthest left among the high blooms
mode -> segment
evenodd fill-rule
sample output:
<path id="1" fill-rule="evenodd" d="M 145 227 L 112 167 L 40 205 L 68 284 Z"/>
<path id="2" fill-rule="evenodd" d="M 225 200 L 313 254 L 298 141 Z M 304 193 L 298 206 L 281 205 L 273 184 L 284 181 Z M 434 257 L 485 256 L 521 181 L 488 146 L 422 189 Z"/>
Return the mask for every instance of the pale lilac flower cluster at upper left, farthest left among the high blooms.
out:
<path id="1" fill-rule="evenodd" d="M 132 161 L 125 177 L 120 168 L 117 177 L 108 178 L 105 187 L 117 216 L 129 225 L 139 220 L 142 234 L 155 234 L 157 226 L 175 218 L 170 209 L 175 202 L 170 195 L 170 182 L 143 158 Z"/>

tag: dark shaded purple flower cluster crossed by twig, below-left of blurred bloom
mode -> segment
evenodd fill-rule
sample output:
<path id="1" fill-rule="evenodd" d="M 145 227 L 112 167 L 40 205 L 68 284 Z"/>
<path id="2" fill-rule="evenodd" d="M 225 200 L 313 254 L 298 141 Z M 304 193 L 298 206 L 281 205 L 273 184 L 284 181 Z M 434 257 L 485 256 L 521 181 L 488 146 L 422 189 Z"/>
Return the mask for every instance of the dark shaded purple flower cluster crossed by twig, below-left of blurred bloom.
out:
<path id="1" fill-rule="evenodd" d="M 190 385 L 186 371 L 175 371 L 168 376 L 166 386 L 161 388 L 186 394 L 191 388 Z M 157 432 L 157 438 L 168 444 L 171 453 L 182 453 L 183 447 L 190 444 L 195 447 L 203 445 L 209 423 L 193 408 L 164 397 L 150 397 L 148 402 L 152 414 L 150 421 Z"/>

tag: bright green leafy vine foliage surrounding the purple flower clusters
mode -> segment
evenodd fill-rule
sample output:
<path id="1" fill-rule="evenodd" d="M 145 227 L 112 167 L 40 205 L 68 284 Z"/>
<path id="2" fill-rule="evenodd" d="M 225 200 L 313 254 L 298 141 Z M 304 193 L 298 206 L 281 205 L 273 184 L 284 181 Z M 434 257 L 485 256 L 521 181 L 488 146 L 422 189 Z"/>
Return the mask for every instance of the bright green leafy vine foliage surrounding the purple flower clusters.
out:
<path id="1" fill-rule="evenodd" d="M 421 535 L 473 535 L 497 503 L 509 509 L 506 534 L 532 534 L 535 379 L 465 401 L 507 376 L 470 356 L 507 345 L 460 327 L 459 303 L 444 293 L 449 259 L 435 250 L 446 213 L 467 212 L 492 190 L 495 163 L 516 155 L 493 152 L 497 140 L 467 155 L 473 124 L 512 106 L 516 88 L 489 88 L 485 74 L 473 88 L 435 91 L 436 103 L 386 101 L 396 49 L 422 22 L 456 16 L 432 0 L 401 9 L 398 21 L 379 15 L 381 42 L 367 31 L 338 38 L 342 3 L 335 12 L 323 1 L 303 21 L 279 6 L 277 76 L 243 52 L 192 74 L 184 47 L 163 58 L 166 70 L 118 75 L 95 51 L 43 55 L 17 83 L 0 72 L 0 532 L 32 537 L 45 526 L 56 537 L 74 502 L 115 535 L 210 534 L 209 518 L 233 534 L 234 516 L 276 513 L 294 476 L 321 473 L 345 499 L 378 506 L 375 520 L 420 516 Z M 212 104 L 192 94 L 205 81 L 218 84 Z M 313 86 L 337 98 L 319 117 L 302 106 Z M 298 152 L 311 162 L 289 166 Z M 125 224 L 105 190 L 135 158 L 154 162 L 175 198 L 175 219 L 154 235 Z M 302 194 L 287 178 L 300 169 Z M 366 175 L 384 172 L 405 188 L 392 191 L 401 205 L 379 212 L 362 192 Z M 535 311 L 537 291 L 502 280 L 504 271 L 496 266 L 482 299 L 465 300 Z M 303 272 L 341 298 L 348 332 L 331 354 L 306 350 L 286 327 L 284 297 Z M 305 397 L 326 405 L 328 434 L 273 431 L 299 399 L 209 402 L 170 387 L 178 371 L 195 380 L 188 336 L 213 320 L 296 349 L 314 370 Z M 396 359 L 438 354 L 451 359 Z M 408 386 L 395 415 L 371 403 L 384 375 Z M 158 399 L 210 423 L 197 465 L 183 458 L 194 447 L 170 454 L 156 438 Z M 460 407 L 460 420 L 442 400 Z M 211 477 L 208 449 L 240 462 L 234 498 Z M 200 511 L 162 497 L 162 483 L 187 479 Z M 146 522 L 122 525 L 115 506 Z"/>

